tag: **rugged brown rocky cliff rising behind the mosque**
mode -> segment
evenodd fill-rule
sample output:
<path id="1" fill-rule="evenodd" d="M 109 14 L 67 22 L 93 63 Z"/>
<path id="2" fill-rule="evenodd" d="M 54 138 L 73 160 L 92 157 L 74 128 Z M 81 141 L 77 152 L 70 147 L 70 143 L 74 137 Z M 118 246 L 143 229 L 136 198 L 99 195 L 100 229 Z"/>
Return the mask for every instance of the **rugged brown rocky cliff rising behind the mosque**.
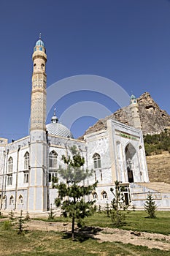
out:
<path id="1" fill-rule="evenodd" d="M 158 134 L 163 131 L 163 129 L 170 127 L 170 116 L 165 110 L 161 110 L 158 104 L 152 99 L 148 92 L 142 94 L 138 99 L 139 104 L 139 118 L 142 124 L 142 131 L 144 135 L 147 134 Z M 101 129 L 107 128 L 107 120 L 115 119 L 123 124 L 131 126 L 131 110 L 127 106 L 125 108 L 120 108 L 111 116 L 102 118 L 93 125 L 89 127 L 86 134 L 92 132 L 98 132 Z M 82 139 L 83 136 L 80 138 Z"/>

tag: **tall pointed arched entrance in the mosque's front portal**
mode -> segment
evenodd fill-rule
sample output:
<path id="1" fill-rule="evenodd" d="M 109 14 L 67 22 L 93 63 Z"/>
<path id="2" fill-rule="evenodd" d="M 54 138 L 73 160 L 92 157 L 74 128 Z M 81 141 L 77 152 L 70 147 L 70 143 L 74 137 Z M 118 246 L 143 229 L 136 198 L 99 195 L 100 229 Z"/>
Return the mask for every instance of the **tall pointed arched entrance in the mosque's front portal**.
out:
<path id="1" fill-rule="evenodd" d="M 126 158 L 126 167 L 127 167 L 129 183 L 134 182 L 133 167 L 134 167 L 135 157 L 136 157 L 136 149 L 134 148 L 134 146 L 131 145 L 131 143 L 128 143 L 128 145 L 125 147 L 125 158 Z"/>

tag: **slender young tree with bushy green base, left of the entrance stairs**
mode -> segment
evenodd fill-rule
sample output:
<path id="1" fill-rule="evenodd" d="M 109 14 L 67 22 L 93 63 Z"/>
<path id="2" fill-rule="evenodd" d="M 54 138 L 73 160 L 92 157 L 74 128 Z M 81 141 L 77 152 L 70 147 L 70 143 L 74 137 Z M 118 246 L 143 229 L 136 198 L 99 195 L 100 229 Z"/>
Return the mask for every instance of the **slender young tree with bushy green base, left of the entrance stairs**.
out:
<path id="1" fill-rule="evenodd" d="M 115 190 L 113 188 L 110 189 L 114 198 L 112 200 L 112 211 L 111 211 L 111 218 L 112 218 L 112 225 L 115 227 L 120 227 L 123 225 L 125 221 L 125 209 L 128 206 L 125 206 L 125 200 L 123 191 L 125 188 L 120 186 L 119 181 L 115 181 Z"/>

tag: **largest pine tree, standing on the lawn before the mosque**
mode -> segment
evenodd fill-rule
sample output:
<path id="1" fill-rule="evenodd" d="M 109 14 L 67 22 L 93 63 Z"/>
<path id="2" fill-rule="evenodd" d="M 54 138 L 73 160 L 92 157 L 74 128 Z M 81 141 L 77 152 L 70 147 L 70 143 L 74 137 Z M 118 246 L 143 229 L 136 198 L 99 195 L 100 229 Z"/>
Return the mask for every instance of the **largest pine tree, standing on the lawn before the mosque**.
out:
<path id="1" fill-rule="evenodd" d="M 53 187 L 58 189 L 58 197 L 55 198 L 55 205 L 61 206 L 63 217 L 72 218 L 72 239 L 74 239 L 74 225 L 77 220 L 78 227 L 82 226 L 82 219 L 90 216 L 96 211 L 93 206 L 95 200 L 85 202 L 85 196 L 90 195 L 96 188 L 97 182 L 92 185 L 85 185 L 82 181 L 92 175 L 93 171 L 84 169 L 85 159 L 80 156 L 80 152 L 73 146 L 70 148 L 72 157 L 62 156 L 66 169 L 60 167 L 58 173 L 63 182 L 58 183 L 58 179 L 53 178 Z"/>

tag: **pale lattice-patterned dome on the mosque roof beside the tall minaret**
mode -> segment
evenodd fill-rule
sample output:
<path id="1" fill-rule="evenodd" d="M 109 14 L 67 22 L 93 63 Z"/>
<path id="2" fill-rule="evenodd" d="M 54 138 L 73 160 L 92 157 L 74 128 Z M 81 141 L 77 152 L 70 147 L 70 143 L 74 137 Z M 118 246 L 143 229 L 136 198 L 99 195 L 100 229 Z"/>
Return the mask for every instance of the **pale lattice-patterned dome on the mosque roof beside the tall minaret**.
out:
<path id="1" fill-rule="evenodd" d="M 51 123 L 46 125 L 47 132 L 50 135 L 57 135 L 64 138 L 73 138 L 72 132 L 63 124 Z"/>

